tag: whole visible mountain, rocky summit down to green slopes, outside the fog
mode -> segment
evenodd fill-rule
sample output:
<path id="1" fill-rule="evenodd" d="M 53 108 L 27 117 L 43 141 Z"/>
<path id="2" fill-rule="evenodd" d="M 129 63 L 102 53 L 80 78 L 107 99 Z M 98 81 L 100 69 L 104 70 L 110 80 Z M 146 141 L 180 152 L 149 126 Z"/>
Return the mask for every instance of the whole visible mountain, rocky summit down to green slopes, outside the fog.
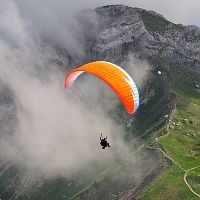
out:
<path id="1" fill-rule="evenodd" d="M 85 169 L 76 180 L 41 178 L 31 189 L 28 185 L 33 177 L 21 180 L 26 172 L 5 160 L 0 163 L 0 198 L 199 199 L 200 29 L 124 5 L 81 11 L 76 19 L 86 53 L 75 61 L 68 50 L 56 49 L 61 58 L 68 58 L 70 67 L 107 60 L 125 63 L 126 68 L 130 55 L 151 66 L 151 78 L 141 89 L 141 107 L 134 120 L 122 107 L 114 113 L 126 129 L 124 139 L 134 150 L 134 159 L 116 161 L 97 174 Z M 64 59 L 57 64 L 62 63 Z M 6 129 L 17 119 L 14 95 L 5 88 L 0 88 L 0 125 Z M 137 144 L 133 144 L 135 139 Z M 87 174 L 90 176 L 84 179 Z"/>

